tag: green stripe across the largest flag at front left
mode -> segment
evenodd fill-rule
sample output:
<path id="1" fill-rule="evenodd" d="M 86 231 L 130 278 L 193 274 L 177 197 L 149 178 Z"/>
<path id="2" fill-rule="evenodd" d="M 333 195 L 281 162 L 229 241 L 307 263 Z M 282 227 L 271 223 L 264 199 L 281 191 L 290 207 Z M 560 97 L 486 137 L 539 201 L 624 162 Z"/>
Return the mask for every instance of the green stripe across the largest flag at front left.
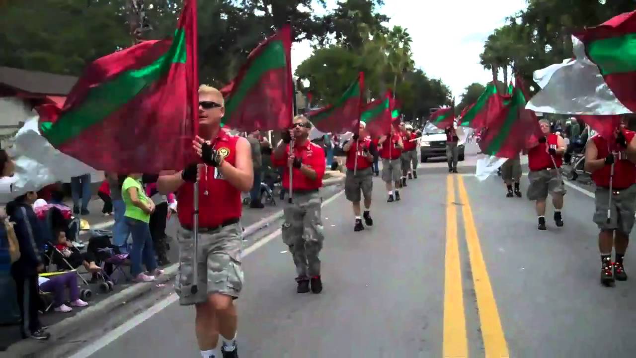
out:
<path id="1" fill-rule="evenodd" d="M 185 29 L 177 29 L 172 45 L 165 54 L 144 68 L 125 71 L 113 80 L 91 89 L 81 106 L 63 113 L 53 125 L 42 125 L 43 135 L 53 146 L 71 140 L 118 111 L 121 106 L 166 75 L 172 64 L 186 63 L 187 56 Z"/>

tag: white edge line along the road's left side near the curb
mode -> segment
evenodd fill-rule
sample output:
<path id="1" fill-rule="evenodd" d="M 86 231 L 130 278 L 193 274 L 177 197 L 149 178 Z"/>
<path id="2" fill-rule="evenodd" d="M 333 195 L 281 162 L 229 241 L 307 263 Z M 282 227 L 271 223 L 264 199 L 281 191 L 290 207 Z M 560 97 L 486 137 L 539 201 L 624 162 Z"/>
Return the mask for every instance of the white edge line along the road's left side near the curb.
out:
<path id="1" fill-rule="evenodd" d="M 333 196 L 323 201 L 321 207 L 324 207 L 327 204 L 331 203 L 332 201 L 338 199 L 338 197 L 342 196 L 342 194 L 344 194 L 344 190 L 340 190 Z M 280 229 L 277 229 L 273 233 L 265 236 L 265 238 L 262 238 L 261 240 L 256 241 L 254 244 L 250 245 L 248 248 L 245 248 L 245 250 L 243 250 L 242 257 L 252 254 L 252 252 L 265 246 L 266 243 L 274 240 L 279 235 L 280 235 Z M 179 296 L 177 296 L 177 294 L 175 293 L 170 294 L 170 296 L 165 297 L 161 301 L 158 301 L 157 303 L 153 304 L 153 306 L 148 308 L 148 310 L 143 311 L 139 315 L 135 315 L 130 320 L 127 320 L 126 322 L 121 324 L 121 326 L 116 327 L 115 329 L 113 329 L 113 331 L 110 331 L 109 333 L 104 334 L 99 339 L 95 340 L 93 343 L 90 343 L 90 345 L 87 345 L 86 347 L 82 348 L 75 354 L 71 355 L 71 358 L 90 357 L 90 355 L 95 354 L 95 352 L 106 347 L 106 345 L 108 345 L 109 343 L 117 340 L 118 338 L 126 334 L 131 329 L 134 329 L 135 327 L 139 326 L 140 324 L 148 320 L 150 317 L 153 317 L 154 315 L 156 315 L 157 313 L 159 313 L 166 307 L 170 306 L 170 304 L 175 303 L 178 300 L 179 300 Z"/>

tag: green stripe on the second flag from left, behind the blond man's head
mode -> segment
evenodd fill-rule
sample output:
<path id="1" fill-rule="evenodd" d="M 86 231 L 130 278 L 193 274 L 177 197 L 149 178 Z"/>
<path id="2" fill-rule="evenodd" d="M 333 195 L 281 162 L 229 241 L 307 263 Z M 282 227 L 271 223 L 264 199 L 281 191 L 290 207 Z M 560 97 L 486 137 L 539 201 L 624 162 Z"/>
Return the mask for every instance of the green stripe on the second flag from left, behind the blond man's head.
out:
<path id="1" fill-rule="evenodd" d="M 281 40 L 272 41 L 263 52 L 254 59 L 251 66 L 247 68 L 245 76 L 239 83 L 239 87 L 234 91 L 232 97 L 225 101 L 225 115 L 223 122 L 232 117 L 233 111 L 243 103 L 247 92 L 261 81 L 261 77 L 268 71 L 274 69 L 286 68 L 287 57 L 285 55 L 285 47 Z"/>

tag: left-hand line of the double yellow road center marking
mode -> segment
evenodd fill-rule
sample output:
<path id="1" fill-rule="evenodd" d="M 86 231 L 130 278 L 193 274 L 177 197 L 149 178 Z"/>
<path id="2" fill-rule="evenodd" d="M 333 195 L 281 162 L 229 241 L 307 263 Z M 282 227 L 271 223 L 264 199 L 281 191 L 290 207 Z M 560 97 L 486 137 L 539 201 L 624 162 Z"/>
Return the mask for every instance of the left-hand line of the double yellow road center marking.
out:
<path id="1" fill-rule="evenodd" d="M 446 177 L 446 262 L 444 277 L 444 357 L 468 357 L 462 271 L 457 240 L 455 181 Z"/>

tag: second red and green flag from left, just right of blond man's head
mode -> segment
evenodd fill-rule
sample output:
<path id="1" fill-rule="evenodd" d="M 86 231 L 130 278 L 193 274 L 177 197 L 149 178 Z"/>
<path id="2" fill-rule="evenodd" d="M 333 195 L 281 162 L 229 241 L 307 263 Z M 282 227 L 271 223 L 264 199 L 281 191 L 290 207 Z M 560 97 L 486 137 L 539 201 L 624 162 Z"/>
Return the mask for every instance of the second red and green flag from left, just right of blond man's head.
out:
<path id="1" fill-rule="evenodd" d="M 294 115 L 291 77 L 291 27 L 254 48 L 239 75 L 221 89 L 225 116 L 221 123 L 251 132 L 289 128 Z"/>

